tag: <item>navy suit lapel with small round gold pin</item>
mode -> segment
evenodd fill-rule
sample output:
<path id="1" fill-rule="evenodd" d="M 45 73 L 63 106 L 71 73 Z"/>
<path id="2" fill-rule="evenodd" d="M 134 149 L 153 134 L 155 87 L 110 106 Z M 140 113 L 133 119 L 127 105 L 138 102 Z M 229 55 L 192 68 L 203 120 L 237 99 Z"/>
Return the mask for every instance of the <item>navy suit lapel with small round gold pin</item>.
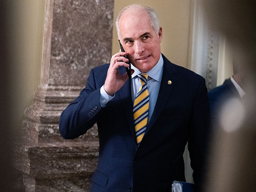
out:
<path id="1" fill-rule="evenodd" d="M 164 55 L 162 56 L 164 59 L 164 70 L 163 70 L 161 85 L 160 85 L 158 97 L 156 100 L 154 112 L 151 116 L 150 122 L 148 123 L 146 133 L 154 125 L 159 115 L 161 114 L 162 110 L 164 109 L 164 106 L 166 105 L 166 102 L 170 97 L 170 94 L 177 81 L 177 78 L 173 75 L 174 73 L 176 73 L 176 69 L 174 68 L 174 65 L 166 57 L 164 57 Z M 171 81 L 171 84 L 168 84 L 168 81 Z"/>

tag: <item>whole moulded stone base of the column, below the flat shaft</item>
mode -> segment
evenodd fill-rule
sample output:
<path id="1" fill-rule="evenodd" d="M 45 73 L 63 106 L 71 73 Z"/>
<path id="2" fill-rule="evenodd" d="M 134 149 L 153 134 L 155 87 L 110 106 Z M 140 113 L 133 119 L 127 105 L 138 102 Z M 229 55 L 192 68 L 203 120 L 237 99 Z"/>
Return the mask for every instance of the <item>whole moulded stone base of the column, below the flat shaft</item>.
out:
<path id="1" fill-rule="evenodd" d="M 26 192 L 89 191 L 98 162 L 97 126 L 74 140 L 62 138 L 58 127 L 61 112 L 79 92 L 74 87 L 41 85 L 34 104 L 26 109 L 22 138 L 14 144 L 13 158 Z"/>

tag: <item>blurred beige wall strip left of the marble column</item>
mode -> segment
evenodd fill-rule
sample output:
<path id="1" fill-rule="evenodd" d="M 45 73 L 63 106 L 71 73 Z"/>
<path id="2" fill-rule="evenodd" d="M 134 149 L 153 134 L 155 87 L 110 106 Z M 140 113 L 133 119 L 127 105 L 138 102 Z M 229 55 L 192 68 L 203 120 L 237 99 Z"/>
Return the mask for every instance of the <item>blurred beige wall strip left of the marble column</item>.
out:
<path id="1" fill-rule="evenodd" d="M 40 84 L 45 0 L 10 0 L 12 132 L 20 137 L 24 111 Z"/>

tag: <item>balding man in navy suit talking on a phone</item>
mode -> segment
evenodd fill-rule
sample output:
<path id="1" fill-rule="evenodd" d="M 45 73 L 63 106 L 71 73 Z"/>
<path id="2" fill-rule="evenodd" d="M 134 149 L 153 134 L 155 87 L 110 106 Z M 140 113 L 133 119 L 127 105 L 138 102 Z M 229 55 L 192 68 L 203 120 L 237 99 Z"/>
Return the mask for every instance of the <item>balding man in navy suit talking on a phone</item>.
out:
<path id="1" fill-rule="evenodd" d="M 76 138 L 97 122 L 100 149 L 92 192 L 167 192 L 173 180 L 185 181 L 187 142 L 198 184 L 209 116 L 204 78 L 161 54 L 162 28 L 152 8 L 130 5 L 116 26 L 126 52 L 90 71 L 86 88 L 60 116 L 61 135 Z M 124 56 L 132 64 L 131 79 Z M 139 93 L 145 111 L 136 130 Z"/>

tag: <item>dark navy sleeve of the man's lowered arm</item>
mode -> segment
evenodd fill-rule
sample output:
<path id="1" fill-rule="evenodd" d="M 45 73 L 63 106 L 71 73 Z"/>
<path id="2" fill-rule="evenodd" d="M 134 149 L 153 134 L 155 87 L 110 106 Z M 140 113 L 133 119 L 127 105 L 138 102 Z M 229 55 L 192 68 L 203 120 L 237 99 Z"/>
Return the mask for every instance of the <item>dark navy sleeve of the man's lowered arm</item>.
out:
<path id="1" fill-rule="evenodd" d="M 201 186 L 202 179 L 204 178 L 203 174 L 205 174 L 203 169 L 208 150 L 209 116 L 210 107 L 207 88 L 203 78 L 196 94 L 188 141 L 191 167 L 194 170 L 193 179 L 197 186 Z"/>

